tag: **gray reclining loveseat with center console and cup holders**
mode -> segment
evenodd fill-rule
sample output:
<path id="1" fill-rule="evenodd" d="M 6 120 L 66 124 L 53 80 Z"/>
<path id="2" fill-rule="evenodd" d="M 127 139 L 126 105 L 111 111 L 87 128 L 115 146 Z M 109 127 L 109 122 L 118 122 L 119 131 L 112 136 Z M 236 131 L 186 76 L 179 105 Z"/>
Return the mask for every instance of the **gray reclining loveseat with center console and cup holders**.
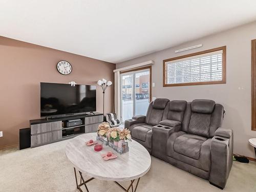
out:
<path id="1" fill-rule="evenodd" d="M 156 99 L 146 116 L 134 116 L 124 126 L 151 155 L 223 189 L 233 153 L 233 132 L 221 128 L 224 114 L 212 100 Z"/>

